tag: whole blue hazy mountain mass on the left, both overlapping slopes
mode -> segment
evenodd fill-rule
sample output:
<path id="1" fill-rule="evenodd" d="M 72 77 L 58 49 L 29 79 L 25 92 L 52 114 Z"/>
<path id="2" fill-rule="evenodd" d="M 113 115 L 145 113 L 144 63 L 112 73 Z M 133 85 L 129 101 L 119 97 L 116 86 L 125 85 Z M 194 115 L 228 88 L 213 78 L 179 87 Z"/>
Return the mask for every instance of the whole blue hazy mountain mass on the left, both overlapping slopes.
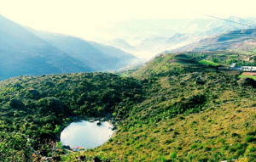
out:
<path id="1" fill-rule="evenodd" d="M 0 80 L 16 75 L 118 70 L 136 59 L 115 47 L 42 33 L 0 16 Z"/>

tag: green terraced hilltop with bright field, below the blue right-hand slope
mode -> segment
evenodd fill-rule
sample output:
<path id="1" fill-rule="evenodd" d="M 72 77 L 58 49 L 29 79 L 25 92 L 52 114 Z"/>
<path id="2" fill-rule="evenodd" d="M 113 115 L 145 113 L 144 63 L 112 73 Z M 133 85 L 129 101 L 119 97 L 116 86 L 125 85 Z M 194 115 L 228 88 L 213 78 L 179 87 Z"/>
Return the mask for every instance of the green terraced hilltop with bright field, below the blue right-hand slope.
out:
<path id="1" fill-rule="evenodd" d="M 230 64 L 255 66 L 255 55 L 248 56 L 245 53 L 216 52 L 187 52 L 187 53 L 163 53 L 155 59 L 144 64 L 142 68 L 125 72 L 136 77 L 149 75 L 166 75 L 166 73 L 195 72 L 218 70 L 218 67 L 229 68 Z"/>

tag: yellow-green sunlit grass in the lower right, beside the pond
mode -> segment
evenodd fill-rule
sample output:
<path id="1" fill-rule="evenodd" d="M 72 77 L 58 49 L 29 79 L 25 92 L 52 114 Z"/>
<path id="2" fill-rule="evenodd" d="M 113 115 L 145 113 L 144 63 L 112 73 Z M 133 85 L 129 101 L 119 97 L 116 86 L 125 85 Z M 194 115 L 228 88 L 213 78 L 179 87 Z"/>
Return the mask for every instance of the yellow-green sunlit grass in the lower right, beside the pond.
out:
<path id="1" fill-rule="evenodd" d="M 243 105 L 250 107 L 249 100 Z M 100 148 L 87 151 L 87 155 L 102 153 L 108 158 L 116 156 L 127 161 L 143 161 L 143 155 L 148 161 L 154 161 L 162 154 L 165 159 L 189 159 L 192 161 L 199 159 L 213 159 L 214 153 L 218 154 L 218 159 L 225 159 L 236 156 L 249 149 L 247 147 L 247 130 L 255 128 L 253 115 L 245 119 L 243 116 L 254 114 L 255 108 L 242 109 L 238 103 L 224 103 L 218 109 L 212 109 L 195 115 L 187 115 L 184 118 L 177 116 L 172 119 L 161 120 L 156 124 L 135 126 L 131 131 L 119 131 L 112 142 L 104 144 Z M 238 107 L 237 107 L 238 106 Z M 230 109 L 235 107 L 234 109 Z M 236 115 L 234 115 L 234 111 Z M 237 113 L 239 112 L 239 113 Z M 206 119 L 211 118 L 212 122 Z M 230 121 L 233 122 L 230 122 Z M 196 122 L 194 124 L 193 122 Z M 249 122 L 248 126 L 244 124 Z M 234 128 L 236 126 L 236 129 Z M 154 131 L 157 128 L 159 131 Z M 171 129 L 172 128 L 172 129 Z M 239 131 L 236 131 L 239 130 Z M 175 132 L 178 132 L 175 135 Z M 231 137 L 236 132 L 241 136 Z M 134 138 L 138 140 L 133 140 Z M 230 146 L 241 142 L 241 147 Z M 122 144 L 119 144 L 122 143 Z M 255 147 L 255 144 L 251 144 Z M 139 147 L 139 148 L 137 148 Z M 103 151 L 104 150 L 104 151 Z M 214 150 L 214 151 L 213 151 Z M 254 152 L 254 151 L 251 151 Z M 112 154 L 114 154 L 112 156 Z"/>

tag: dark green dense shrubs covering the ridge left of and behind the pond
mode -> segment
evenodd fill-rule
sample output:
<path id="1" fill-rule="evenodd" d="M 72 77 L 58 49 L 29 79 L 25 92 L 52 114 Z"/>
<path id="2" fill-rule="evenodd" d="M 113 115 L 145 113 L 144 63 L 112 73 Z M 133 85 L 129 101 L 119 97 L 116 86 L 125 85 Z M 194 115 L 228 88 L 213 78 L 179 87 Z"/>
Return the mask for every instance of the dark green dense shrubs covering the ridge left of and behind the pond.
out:
<path id="1" fill-rule="evenodd" d="M 112 113 L 121 120 L 142 93 L 140 81 L 107 73 L 20 76 L 2 81 L 0 89 L 1 132 L 26 135 L 32 149 L 42 156 L 55 154 L 49 142 L 58 139 L 63 126 Z M 11 147 L 5 139 L 3 144 Z M 3 154 L 4 158 L 8 155 Z"/>

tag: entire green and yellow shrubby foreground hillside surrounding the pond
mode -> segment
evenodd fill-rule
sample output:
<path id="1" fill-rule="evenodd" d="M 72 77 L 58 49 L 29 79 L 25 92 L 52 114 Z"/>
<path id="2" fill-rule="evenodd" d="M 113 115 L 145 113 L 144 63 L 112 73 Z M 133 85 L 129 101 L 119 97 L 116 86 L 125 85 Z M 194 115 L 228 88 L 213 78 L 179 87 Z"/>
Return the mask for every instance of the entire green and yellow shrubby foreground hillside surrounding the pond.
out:
<path id="1" fill-rule="evenodd" d="M 195 58 L 201 54 L 190 55 L 160 55 L 134 77 L 79 73 L 1 81 L 0 159 L 253 161 L 255 81 L 199 64 Z M 99 148 L 65 153 L 55 149 L 57 143 L 48 144 L 74 120 L 109 115 L 118 129 Z"/>

